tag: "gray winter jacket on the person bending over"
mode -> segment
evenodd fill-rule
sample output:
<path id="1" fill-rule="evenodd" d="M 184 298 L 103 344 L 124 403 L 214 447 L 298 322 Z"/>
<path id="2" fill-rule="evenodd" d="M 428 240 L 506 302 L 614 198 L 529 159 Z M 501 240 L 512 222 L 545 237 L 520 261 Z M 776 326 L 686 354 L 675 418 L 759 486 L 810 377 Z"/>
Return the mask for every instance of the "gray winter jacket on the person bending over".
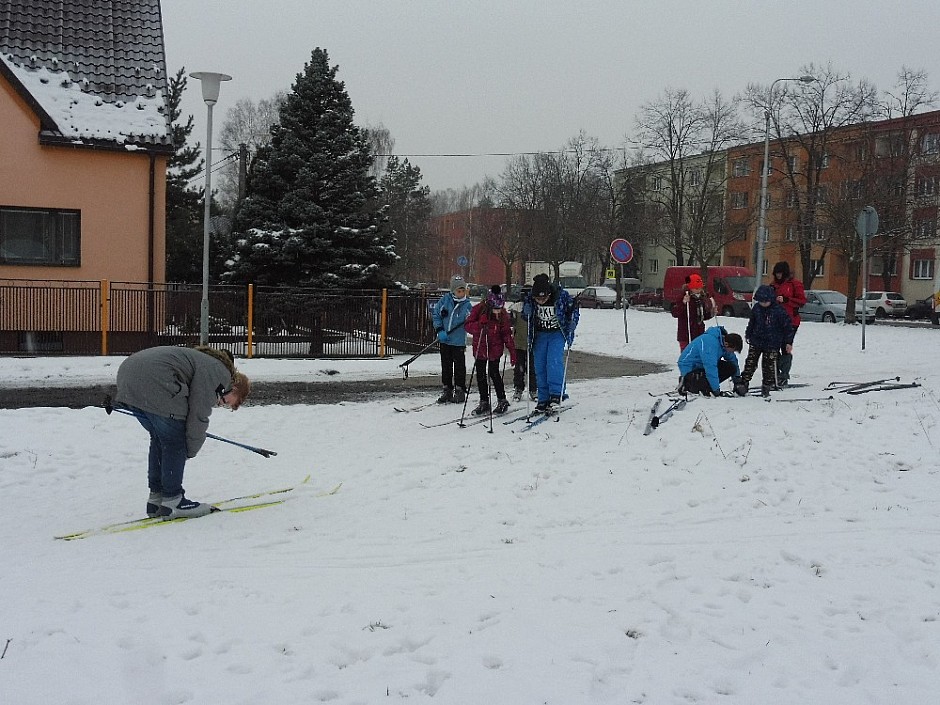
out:
<path id="1" fill-rule="evenodd" d="M 232 384 L 221 361 L 190 348 L 147 348 L 118 368 L 115 401 L 142 411 L 186 421 L 186 456 L 193 458 L 206 442 L 209 415 L 219 392 Z"/>

